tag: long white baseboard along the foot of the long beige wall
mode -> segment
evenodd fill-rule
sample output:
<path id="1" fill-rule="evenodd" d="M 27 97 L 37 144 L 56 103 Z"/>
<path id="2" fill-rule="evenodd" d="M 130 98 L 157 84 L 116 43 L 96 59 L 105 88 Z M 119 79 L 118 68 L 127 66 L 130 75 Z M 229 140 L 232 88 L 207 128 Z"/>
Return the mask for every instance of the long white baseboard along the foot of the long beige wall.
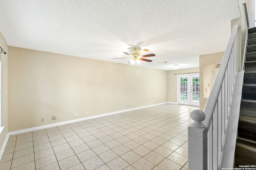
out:
<path id="1" fill-rule="evenodd" d="M 32 128 L 28 128 L 28 129 L 22 129 L 22 130 L 18 130 L 18 131 L 11 131 L 11 132 L 9 132 L 9 135 L 15 135 L 15 134 L 18 134 L 18 133 L 35 131 L 35 130 L 38 130 L 38 129 L 44 129 L 44 128 L 48 128 L 48 127 L 59 126 L 59 125 L 64 125 L 64 124 L 68 124 L 68 123 L 74 123 L 74 122 L 77 122 L 77 121 L 83 121 L 83 120 L 87 120 L 87 119 L 93 119 L 93 118 L 96 118 L 96 117 L 102 117 L 102 116 L 112 115 L 112 114 L 116 114 L 116 113 L 132 111 L 132 110 L 136 110 L 136 109 L 143 109 L 143 108 L 146 108 L 146 107 L 152 107 L 152 106 L 157 106 L 157 105 L 167 104 L 167 103 L 172 103 L 172 102 L 164 102 L 164 103 L 159 103 L 159 104 L 152 104 L 152 105 L 148 105 L 148 106 L 142 106 L 142 107 L 136 107 L 136 108 L 132 108 L 132 109 L 114 111 L 114 112 L 111 112 L 111 113 L 104 113 L 104 114 L 90 116 L 90 117 L 84 117 L 84 118 L 80 118 L 80 119 L 63 121 L 63 122 L 59 122 L 59 123 L 52 123 L 52 124 L 48 124 L 48 125 L 32 127 Z M 176 104 L 176 103 L 172 103 L 172 104 Z"/>

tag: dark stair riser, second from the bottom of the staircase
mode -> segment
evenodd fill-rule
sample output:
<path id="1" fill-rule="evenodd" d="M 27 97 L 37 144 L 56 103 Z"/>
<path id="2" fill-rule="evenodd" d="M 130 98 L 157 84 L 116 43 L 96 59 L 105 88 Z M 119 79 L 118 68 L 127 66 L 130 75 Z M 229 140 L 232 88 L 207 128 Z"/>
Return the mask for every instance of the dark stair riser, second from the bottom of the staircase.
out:
<path id="1" fill-rule="evenodd" d="M 256 141 L 256 125 L 248 122 L 239 121 L 238 136 Z"/>

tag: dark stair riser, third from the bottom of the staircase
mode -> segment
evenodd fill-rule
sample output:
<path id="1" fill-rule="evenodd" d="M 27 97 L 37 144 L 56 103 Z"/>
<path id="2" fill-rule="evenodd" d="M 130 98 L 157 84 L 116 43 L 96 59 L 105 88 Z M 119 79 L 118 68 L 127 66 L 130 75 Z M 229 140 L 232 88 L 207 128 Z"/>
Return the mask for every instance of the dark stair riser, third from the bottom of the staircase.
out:
<path id="1" fill-rule="evenodd" d="M 240 115 L 256 117 L 256 103 L 241 102 Z"/>

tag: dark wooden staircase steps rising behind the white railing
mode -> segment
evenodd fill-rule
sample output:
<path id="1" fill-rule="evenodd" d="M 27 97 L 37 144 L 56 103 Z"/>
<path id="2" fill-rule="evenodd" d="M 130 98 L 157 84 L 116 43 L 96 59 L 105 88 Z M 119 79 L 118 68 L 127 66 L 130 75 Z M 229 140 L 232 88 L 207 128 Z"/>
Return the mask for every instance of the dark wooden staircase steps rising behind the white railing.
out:
<path id="1" fill-rule="evenodd" d="M 248 29 L 235 167 L 256 164 L 256 27 Z"/>

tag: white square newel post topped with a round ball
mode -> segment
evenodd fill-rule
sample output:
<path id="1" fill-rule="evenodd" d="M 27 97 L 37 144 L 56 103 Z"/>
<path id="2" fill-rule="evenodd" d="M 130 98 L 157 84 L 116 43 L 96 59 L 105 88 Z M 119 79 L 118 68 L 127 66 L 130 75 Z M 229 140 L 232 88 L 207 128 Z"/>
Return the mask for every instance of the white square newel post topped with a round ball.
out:
<path id="1" fill-rule="evenodd" d="M 207 128 L 201 110 L 190 112 L 193 122 L 188 126 L 188 169 L 207 170 Z"/>

